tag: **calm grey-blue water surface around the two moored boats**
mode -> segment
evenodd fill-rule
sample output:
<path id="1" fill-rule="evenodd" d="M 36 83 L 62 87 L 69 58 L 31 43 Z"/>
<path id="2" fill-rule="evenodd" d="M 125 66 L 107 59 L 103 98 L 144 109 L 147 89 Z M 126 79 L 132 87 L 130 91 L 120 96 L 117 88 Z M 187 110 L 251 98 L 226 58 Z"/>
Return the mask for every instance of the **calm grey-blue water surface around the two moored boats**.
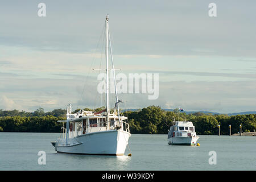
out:
<path id="1" fill-rule="evenodd" d="M 0 170 L 256 170 L 256 137 L 200 135 L 201 146 L 169 146 L 167 135 L 132 134 L 132 157 L 56 153 L 56 133 L 0 133 Z M 39 165 L 38 151 L 46 152 Z M 210 165 L 209 151 L 217 164 Z"/>

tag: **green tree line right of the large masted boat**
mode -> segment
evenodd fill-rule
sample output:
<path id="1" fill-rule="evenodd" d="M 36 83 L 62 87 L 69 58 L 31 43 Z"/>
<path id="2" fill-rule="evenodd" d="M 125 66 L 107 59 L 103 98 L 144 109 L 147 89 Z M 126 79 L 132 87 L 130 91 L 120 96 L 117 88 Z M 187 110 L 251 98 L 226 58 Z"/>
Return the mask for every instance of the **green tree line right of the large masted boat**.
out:
<path id="1" fill-rule="evenodd" d="M 158 106 L 148 106 L 138 111 L 123 112 L 129 119 L 131 133 L 137 134 L 167 134 L 168 129 L 173 125 L 174 118 L 177 121 L 192 121 L 196 133 L 199 135 L 218 135 L 218 125 L 220 125 L 221 135 L 229 135 L 229 125 L 232 126 L 232 134 L 240 131 L 242 125 L 243 132 L 256 130 L 256 114 L 232 115 L 227 114 L 204 114 L 179 113 L 179 109 L 174 111 L 164 111 Z"/>

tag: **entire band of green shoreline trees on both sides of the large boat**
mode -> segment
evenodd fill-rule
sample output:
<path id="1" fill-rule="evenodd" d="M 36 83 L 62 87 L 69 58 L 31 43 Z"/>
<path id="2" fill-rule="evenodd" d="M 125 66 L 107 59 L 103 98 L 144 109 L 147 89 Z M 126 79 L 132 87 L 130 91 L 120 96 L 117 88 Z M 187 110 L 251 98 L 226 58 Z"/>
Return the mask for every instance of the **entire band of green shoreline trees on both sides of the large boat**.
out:
<path id="1" fill-rule="evenodd" d="M 103 109 L 104 107 L 83 110 L 97 112 Z M 73 113 L 79 110 L 81 109 Z M 66 113 L 65 109 L 54 109 L 46 113 L 43 108 L 34 112 L 0 109 L 0 132 L 60 133 L 63 123 L 57 121 L 65 120 Z M 218 135 L 218 125 L 221 135 L 229 135 L 229 125 L 232 126 L 232 134 L 239 133 L 240 125 L 242 125 L 242 133 L 256 130 L 256 114 L 231 116 L 200 112 L 186 114 L 179 113 L 179 109 L 165 111 L 159 106 L 148 106 L 137 111 L 121 111 L 121 114 L 128 117 L 131 134 L 168 134 L 174 117 L 176 121 L 178 118 L 180 121 L 192 121 L 198 135 Z"/>

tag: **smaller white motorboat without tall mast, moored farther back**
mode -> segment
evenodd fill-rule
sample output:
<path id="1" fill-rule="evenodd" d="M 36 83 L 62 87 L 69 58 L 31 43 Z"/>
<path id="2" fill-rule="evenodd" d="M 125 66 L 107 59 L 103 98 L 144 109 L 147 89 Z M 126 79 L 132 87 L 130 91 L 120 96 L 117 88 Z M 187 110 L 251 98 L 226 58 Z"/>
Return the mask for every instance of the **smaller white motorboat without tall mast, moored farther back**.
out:
<path id="1" fill-rule="evenodd" d="M 174 121 L 168 133 L 168 144 L 194 146 L 198 139 L 195 126 L 189 121 Z"/>

